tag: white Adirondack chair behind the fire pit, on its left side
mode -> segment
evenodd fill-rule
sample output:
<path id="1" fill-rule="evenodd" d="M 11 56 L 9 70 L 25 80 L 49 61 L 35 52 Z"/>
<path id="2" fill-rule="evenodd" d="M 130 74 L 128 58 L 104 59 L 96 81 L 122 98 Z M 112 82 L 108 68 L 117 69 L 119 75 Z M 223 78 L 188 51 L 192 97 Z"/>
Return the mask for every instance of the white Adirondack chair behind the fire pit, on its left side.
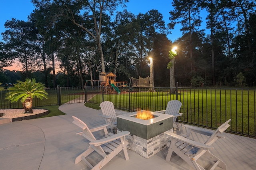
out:
<path id="1" fill-rule="evenodd" d="M 109 101 L 102 102 L 100 109 L 103 114 L 100 116 L 104 117 L 106 123 L 110 124 L 110 130 L 114 133 L 114 128 L 117 127 L 117 118 L 114 104 Z"/>

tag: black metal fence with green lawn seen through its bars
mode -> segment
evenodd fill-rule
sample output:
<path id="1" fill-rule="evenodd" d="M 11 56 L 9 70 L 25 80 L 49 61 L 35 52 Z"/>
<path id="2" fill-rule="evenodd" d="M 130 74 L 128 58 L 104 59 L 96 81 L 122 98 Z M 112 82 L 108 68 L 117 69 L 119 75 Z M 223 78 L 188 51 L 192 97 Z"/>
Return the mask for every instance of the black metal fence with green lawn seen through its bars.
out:
<path id="1" fill-rule="evenodd" d="M 256 137 L 256 89 L 234 88 L 137 88 L 118 87 L 57 87 L 48 88 L 48 99 L 34 99 L 33 107 L 90 102 L 100 104 L 111 101 L 116 109 L 137 111 L 165 110 L 168 101 L 182 102 L 177 121 L 216 129 L 232 119 L 228 131 L 248 137 Z M 150 92 L 152 91 L 153 92 Z M 0 91 L 0 109 L 22 108 L 20 102 L 10 103 L 4 99 L 8 92 Z M 170 93 L 171 92 L 171 93 Z"/>

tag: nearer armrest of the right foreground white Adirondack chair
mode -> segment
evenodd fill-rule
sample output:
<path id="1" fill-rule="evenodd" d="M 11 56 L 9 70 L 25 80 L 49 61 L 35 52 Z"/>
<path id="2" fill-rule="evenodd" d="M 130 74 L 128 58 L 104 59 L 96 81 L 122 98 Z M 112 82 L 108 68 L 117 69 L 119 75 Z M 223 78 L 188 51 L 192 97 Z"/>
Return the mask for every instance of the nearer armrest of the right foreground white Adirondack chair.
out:
<path id="1" fill-rule="evenodd" d="M 213 147 L 209 146 L 209 145 L 205 145 L 203 143 L 199 143 L 199 142 L 196 142 L 196 141 L 192 141 L 190 139 L 187 139 L 185 137 L 182 137 L 180 135 L 177 135 L 175 133 L 166 133 L 167 135 L 171 136 L 172 138 L 174 139 L 177 139 L 178 141 L 182 141 L 184 143 L 188 143 L 189 145 L 192 145 L 194 147 L 198 147 L 200 149 L 204 149 L 204 150 L 208 150 L 208 149 L 214 149 Z M 171 141 L 172 142 L 172 141 Z"/>

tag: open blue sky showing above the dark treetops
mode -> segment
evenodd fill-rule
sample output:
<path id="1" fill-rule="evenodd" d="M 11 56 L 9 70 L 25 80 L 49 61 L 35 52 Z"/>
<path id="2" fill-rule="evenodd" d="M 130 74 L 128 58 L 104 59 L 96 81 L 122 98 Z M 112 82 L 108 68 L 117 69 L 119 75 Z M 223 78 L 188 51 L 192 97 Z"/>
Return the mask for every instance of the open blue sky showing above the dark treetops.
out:
<path id="1" fill-rule="evenodd" d="M 172 0 L 130 0 L 127 4 L 127 10 L 137 15 L 140 12 L 145 14 L 147 11 L 155 9 L 158 10 L 163 16 L 164 21 L 168 24 L 169 12 L 172 10 Z M 0 0 L 0 33 L 5 31 L 4 23 L 7 20 L 16 18 L 17 20 L 27 21 L 28 15 L 34 10 L 34 6 L 31 0 Z M 178 27 L 172 30 L 172 34 L 167 37 L 171 41 L 175 41 L 178 37 L 181 37 L 182 33 Z M 0 35 L 0 41 L 2 35 Z"/>

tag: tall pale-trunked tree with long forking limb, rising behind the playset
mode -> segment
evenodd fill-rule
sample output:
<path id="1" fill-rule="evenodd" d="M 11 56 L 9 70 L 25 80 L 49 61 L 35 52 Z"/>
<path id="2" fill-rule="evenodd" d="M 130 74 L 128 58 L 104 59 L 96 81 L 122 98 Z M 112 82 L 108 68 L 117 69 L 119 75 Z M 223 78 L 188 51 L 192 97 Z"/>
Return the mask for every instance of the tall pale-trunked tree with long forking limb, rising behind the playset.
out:
<path id="1" fill-rule="evenodd" d="M 102 29 L 104 29 L 102 23 L 105 22 L 102 17 L 104 14 L 106 15 L 107 11 L 112 15 L 117 6 L 124 6 L 124 3 L 128 2 L 128 0 L 61 0 L 59 2 L 52 2 L 51 0 L 32 0 L 32 2 L 37 8 L 53 4 L 58 8 L 58 12 L 55 13 L 54 18 L 60 18 L 64 15 L 72 21 L 72 23 L 86 31 L 88 36 L 92 37 L 97 45 L 98 55 L 100 55 L 101 59 L 102 72 L 106 72 L 101 44 Z M 92 25 L 94 29 L 91 29 L 92 25 L 90 25 L 90 27 L 86 27 L 88 26 L 87 24 L 84 25 L 88 20 L 93 22 Z"/>

